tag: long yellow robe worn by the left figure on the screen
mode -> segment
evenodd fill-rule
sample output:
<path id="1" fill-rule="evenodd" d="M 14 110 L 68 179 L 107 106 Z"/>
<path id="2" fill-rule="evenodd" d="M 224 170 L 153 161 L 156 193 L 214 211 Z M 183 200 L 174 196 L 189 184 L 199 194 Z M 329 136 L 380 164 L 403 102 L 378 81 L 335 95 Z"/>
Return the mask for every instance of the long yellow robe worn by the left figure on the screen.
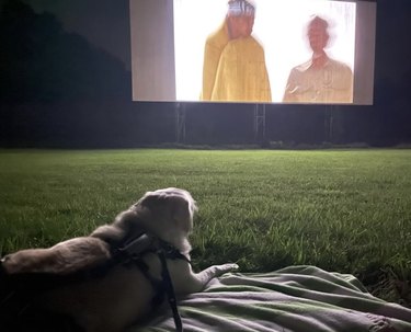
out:
<path id="1" fill-rule="evenodd" d="M 202 100 L 271 102 L 264 49 L 252 36 L 228 38 L 224 24 L 206 43 Z"/>

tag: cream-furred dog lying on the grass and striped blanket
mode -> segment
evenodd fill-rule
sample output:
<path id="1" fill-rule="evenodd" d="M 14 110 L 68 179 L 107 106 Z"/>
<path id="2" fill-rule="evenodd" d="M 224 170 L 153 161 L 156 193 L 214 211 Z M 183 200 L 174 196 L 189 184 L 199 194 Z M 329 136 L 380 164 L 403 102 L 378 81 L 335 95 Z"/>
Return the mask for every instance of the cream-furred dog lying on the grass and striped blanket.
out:
<path id="1" fill-rule="evenodd" d="M 82 331 L 123 331 L 153 310 L 158 295 L 155 282 L 161 279 L 163 271 L 158 252 L 150 250 L 152 243 L 157 249 L 158 243 L 167 243 L 176 253 L 165 256 L 165 262 L 178 297 L 201 291 L 213 278 L 238 268 L 237 264 L 222 264 L 193 272 L 189 236 L 196 210 L 196 202 L 185 190 L 147 192 L 114 222 L 96 228 L 89 237 L 9 254 L 2 260 L 2 270 L 10 278 L 47 275 L 69 279 L 35 294 L 33 306 L 70 317 Z M 113 257 L 124 256 L 124 251 L 132 253 L 116 263 Z M 88 277 L 70 278 L 84 271 L 81 276 Z"/>

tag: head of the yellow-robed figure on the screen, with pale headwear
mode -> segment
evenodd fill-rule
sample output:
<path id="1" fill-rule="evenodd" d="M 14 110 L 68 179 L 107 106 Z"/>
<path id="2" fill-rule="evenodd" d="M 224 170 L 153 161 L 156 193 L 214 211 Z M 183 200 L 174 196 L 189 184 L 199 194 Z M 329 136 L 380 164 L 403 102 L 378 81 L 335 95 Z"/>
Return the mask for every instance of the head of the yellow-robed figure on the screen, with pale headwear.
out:
<path id="1" fill-rule="evenodd" d="M 255 5 L 252 1 L 228 1 L 227 22 L 231 38 L 244 38 L 251 35 L 254 26 Z"/>

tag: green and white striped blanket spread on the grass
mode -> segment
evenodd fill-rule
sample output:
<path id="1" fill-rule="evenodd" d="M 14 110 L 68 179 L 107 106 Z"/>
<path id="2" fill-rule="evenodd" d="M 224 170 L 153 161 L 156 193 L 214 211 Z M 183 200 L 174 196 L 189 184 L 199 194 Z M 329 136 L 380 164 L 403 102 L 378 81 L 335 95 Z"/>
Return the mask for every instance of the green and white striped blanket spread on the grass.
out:
<path id="1" fill-rule="evenodd" d="M 184 331 L 411 332 L 411 310 L 372 296 L 352 275 L 313 266 L 225 274 L 179 300 Z M 128 332 L 174 331 L 170 310 Z"/>

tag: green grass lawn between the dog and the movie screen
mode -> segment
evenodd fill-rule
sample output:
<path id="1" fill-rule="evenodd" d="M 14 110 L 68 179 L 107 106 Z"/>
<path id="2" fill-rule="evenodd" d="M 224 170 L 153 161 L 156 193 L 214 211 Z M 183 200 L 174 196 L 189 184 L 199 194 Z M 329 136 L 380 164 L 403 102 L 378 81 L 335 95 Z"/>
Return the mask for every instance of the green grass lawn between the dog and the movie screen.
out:
<path id="1" fill-rule="evenodd" d="M 0 253 L 87 234 L 167 186 L 198 203 L 197 268 L 312 264 L 411 302 L 411 150 L 0 150 Z"/>

